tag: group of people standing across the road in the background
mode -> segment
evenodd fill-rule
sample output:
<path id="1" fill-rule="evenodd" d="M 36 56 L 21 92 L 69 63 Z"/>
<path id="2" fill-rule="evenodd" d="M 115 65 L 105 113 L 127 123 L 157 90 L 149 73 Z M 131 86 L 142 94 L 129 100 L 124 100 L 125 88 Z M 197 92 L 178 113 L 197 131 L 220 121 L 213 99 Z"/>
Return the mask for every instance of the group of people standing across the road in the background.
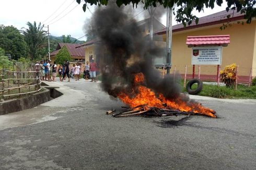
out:
<path id="1" fill-rule="evenodd" d="M 82 70 L 82 67 L 79 63 L 76 63 L 76 65 L 73 64 L 73 67 L 69 69 L 68 61 L 65 61 L 65 63 L 63 65 L 59 65 L 59 67 L 57 67 L 55 62 L 51 64 L 51 60 L 49 59 L 41 60 L 40 64 L 37 62 L 36 65 L 39 66 L 38 69 L 40 69 L 41 72 L 40 79 L 45 81 L 55 81 L 57 72 L 59 72 L 60 81 L 63 81 L 66 78 L 68 78 L 68 81 L 70 81 L 71 76 L 74 77 L 77 81 L 80 78 L 80 72 Z M 91 63 L 86 62 L 84 69 L 85 79 L 88 80 L 90 77 L 91 82 L 96 82 L 97 64 L 95 63 L 94 58 L 91 59 Z M 71 75 L 69 74 L 70 70 Z"/>

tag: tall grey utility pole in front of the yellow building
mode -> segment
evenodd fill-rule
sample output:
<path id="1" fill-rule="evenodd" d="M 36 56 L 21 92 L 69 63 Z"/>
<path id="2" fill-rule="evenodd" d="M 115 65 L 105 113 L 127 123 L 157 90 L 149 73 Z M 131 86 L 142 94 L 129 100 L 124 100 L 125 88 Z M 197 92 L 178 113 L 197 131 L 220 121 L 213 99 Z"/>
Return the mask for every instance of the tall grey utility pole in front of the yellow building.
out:
<path id="1" fill-rule="evenodd" d="M 167 20 L 166 20 L 166 67 L 167 74 L 170 74 L 171 68 L 171 42 L 172 42 L 172 9 L 167 7 Z"/>

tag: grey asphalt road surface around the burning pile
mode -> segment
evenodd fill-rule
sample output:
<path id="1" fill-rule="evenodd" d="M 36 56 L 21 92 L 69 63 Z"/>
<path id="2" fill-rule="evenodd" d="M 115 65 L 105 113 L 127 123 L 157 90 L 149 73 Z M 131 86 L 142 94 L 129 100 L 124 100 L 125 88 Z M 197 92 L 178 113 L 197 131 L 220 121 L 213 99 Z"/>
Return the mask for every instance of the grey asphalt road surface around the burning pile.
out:
<path id="1" fill-rule="evenodd" d="M 218 118 L 113 118 L 106 111 L 122 103 L 99 83 L 49 84 L 64 95 L 0 116 L 1 170 L 256 167 L 256 100 L 193 96 Z"/>

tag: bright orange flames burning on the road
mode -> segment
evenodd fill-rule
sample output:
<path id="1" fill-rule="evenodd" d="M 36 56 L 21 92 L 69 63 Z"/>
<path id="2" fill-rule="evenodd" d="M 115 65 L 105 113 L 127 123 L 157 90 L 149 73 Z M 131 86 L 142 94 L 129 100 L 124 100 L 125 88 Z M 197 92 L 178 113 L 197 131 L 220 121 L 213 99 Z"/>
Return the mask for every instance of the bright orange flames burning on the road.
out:
<path id="1" fill-rule="evenodd" d="M 132 94 L 121 92 L 118 95 L 118 98 L 130 107 L 147 104 L 148 107 L 172 108 L 182 112 L 192 112 L 216 117 L 214 115 L 214 110 L 204 107 L 200 103 L 185 102 L 182 101 L 181 98 L 171 101 L 166 99 L 161 93 L 157 96 L 153 91 L 142 85 L 144 81 L 144 75 L 141 72 L 134 75 L 134 88 L 132 89 Z"/>

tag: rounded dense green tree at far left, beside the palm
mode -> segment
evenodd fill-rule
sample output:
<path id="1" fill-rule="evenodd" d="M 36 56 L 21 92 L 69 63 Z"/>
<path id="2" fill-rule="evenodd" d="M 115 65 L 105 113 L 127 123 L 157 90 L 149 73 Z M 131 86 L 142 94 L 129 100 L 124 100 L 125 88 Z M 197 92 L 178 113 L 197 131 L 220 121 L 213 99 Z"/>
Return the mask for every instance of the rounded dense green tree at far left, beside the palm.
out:
<path id="1" fill-rule="evenodd" d="M 13 26 L 0 25 L 0 47 L 10 54 L 13 59 L 26 57 L 27 43 L 19 30 Z"/>

